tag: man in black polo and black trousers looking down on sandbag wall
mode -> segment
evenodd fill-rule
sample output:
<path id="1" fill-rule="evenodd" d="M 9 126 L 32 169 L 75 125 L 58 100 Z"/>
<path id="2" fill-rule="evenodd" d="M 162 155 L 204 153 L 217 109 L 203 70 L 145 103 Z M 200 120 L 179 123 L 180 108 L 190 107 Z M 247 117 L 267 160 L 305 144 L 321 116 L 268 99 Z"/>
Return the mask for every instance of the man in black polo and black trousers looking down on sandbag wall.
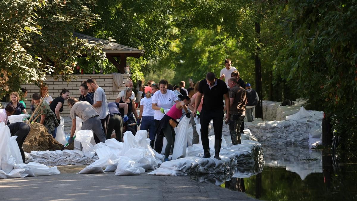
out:
<path id="1" fill-rule="evenodd" d="M 196 116 L 197 108 L 200 105 L 203 96 L 202 110 L 200 113 L 201 123 L 201 140 L 204 151 L 204 158 L 211 157 L 210 144 L 208 142 L 208 125 L 211 119 L 213 120 L 213 129 L 215 131 L 215 158 L 221 160 L 219 157 L 222 144 L 222 127 L 223 127 L 223 99 L 226 102 L 226 122 L 229 119 L 230 100 L 228 97 L 228 88 L 223 80 L 216 78 L 212 72 L 206 74 L 206 79 L 203 79 L 198 84 L 198 94 L 195 100 L 195 110 L 193 115 Z"/>

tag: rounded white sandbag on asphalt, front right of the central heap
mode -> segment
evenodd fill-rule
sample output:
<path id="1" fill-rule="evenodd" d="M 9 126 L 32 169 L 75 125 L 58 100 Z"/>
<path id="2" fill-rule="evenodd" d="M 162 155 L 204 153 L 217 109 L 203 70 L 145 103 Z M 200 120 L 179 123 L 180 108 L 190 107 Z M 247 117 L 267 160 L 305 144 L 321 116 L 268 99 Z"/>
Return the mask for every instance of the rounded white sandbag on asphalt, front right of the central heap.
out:
<path id="1" fill-rule="evenodd" d="M 115 176 L 140 175 L 144 173 L 144 168 L 128 157 L 122 157 L 115 170 Z"/>

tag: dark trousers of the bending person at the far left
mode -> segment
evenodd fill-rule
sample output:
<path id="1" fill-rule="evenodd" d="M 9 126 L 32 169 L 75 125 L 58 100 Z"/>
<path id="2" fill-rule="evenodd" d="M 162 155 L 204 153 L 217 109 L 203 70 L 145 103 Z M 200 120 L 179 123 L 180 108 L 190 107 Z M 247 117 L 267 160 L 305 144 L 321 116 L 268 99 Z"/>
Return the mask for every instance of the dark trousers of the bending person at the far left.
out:
<path id="1" fill-rule="evenodd" d="M 22 144 L 30 133 L 30 126 L 23 122 L 10 123 L 7 126 L 10 128 L 11 136 L 17 136 L 16 142 L 20 148 L 22 161 L 25 163 L 25 152 L 24 149 L 22 149 Z"/>

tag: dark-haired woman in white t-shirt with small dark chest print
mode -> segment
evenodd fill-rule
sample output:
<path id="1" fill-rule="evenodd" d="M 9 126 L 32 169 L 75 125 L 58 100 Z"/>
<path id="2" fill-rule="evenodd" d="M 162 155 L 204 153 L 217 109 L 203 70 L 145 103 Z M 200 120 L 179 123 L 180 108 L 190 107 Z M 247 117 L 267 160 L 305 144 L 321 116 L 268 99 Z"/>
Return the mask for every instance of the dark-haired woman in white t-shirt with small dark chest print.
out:
<path id="1" fill-rule="evenodd" d="M 167 85 L 169 82 L 167 80 L 161 80 L 159 82 L 159 92 L 156 92 L 152 97 L 152 109 L 155 110 L 155 128 L 157 129 L 160 120 L 164 117 L 165 109 L 170 109 L 179 100 L 175 92 L 167 90 Z M 152 85 L 151 85 L 152 86 Z M 164 142 L 164 137 L 161 135 L 156 135 L 155 149 L 157 153 L 161 153 L 162 144 Z"/>

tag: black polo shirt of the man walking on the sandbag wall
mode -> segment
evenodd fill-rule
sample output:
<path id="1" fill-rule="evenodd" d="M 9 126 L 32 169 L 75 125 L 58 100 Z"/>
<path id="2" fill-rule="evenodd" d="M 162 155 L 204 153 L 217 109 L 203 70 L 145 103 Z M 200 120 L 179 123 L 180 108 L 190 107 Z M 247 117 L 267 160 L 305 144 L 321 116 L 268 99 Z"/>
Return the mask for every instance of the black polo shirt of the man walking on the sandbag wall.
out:
<path id="1" fill-rule="evenodd" d="M 203 94 L 202 109 L 222 109 L 223 110 L 223 95 L 228 93 L 228 88 L 223 80 L 216 78 L 217 85 L 210 89 L 207 80 L 203 79 L 198 84 L 198 92 Z"/>

